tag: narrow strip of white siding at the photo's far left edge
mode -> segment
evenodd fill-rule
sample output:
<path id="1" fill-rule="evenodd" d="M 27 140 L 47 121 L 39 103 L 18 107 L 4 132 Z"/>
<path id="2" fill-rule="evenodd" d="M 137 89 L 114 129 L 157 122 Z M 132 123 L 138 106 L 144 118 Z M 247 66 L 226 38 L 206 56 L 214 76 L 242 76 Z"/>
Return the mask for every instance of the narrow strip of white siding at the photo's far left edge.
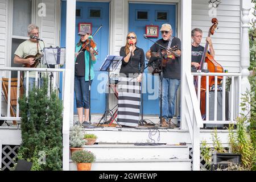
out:
<path id="1" fill-rule="evenodd" d="M 6 59 L 6 26 L 7 0 L 0 0 L 0 66 L 5 65 Z"/>

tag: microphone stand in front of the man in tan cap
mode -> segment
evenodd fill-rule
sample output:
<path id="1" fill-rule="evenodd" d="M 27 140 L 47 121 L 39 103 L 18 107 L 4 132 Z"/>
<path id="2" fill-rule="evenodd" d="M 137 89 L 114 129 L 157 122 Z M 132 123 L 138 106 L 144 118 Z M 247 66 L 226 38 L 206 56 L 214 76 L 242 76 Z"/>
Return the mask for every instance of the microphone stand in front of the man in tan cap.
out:
<path id="1" fill-rule="evenodd" d="M 147 36 L 144 35 L 144 38 L 147 40 L 150 40 L 147 38 Z M 157 44 L 160 46 L 160 64 L 161 64 L 161 72 L 160 72 L 160 126 L 163 125 L 162 117 L 163 117 L 163 64 L 162 64 L 162 50 L 166 49 L 166 51 L 169 51 L 166 47 L 160 45 L 159 43 L 154 42 L 153 40 L 150 40 L 151 42 Z"/>

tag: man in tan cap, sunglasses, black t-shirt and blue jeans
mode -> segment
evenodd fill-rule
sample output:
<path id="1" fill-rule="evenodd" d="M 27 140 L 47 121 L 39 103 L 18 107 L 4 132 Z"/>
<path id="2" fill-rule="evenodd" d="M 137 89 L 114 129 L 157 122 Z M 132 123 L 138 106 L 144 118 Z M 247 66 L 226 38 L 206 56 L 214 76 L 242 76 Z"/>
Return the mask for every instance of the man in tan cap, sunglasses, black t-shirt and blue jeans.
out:
<path id="1" fill-rule="evenodd" d="M 166 61 L 166 57 L 170 60 L 167 60 L 166 66 L 163 65 L 163 118 L 162 126 L 168 127 L 168 122 L 170 122 L 170 127 L 174 128 L 176 125 L 171 122 L 172 117 L 175 114 L 175 99 L 177 89 L 180 85 L 180 72 L 181 72 L 181 42 L 179 38 L 172 36 L 172 27 L 171 24 L 162 24 L 160 28 L 162 39 L 159 39 L 156 43 L 171 49 L 176 47 L 176 51 L 167 51 L 166 55 L 162 59 Z M 154 55 L 154 52 L 158 52 L 161 47 L 158 44 L 153 44 L 150 47 L 150 50 L 146 52 L 146 57 L 150 60 L 150 57 Z M 164 50 L 163 50 L 164 51 Z M 159 82 L 160 83 L 160 82 Z M 160 94 L 159 94 L 160 96 Z"/>

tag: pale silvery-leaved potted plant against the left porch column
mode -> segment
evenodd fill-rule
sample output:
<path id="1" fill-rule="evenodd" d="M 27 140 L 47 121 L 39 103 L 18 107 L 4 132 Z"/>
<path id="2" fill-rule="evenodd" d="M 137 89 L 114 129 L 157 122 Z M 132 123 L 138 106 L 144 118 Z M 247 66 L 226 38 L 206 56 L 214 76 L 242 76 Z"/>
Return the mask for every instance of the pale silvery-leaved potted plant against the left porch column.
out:
<path id="1" fill-rule="evenodd" d="M 84 130 L 82 126 L 73 126 L 69 134 L 69 146 L 71 150 L 71 155 L 73 154 L 73 151 L 82 150 L 82 146 L 84 146 L 84 144 Z"/>

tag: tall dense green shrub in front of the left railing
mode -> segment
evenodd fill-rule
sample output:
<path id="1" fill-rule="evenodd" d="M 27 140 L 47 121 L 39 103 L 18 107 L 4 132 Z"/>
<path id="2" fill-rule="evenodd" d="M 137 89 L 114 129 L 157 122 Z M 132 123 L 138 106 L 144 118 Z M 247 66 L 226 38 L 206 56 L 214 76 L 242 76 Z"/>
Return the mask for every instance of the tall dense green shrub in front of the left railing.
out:
<path id="1" fill-rule="evenodd" d="M 48 80 L 19 100 L 22 144 L 18 159 L 33 163 L 31 170 L 62 169 L 62 101 L 57 92 L 48 97 Z M 44 160 L 42 162 L 42 159 Z"/>

